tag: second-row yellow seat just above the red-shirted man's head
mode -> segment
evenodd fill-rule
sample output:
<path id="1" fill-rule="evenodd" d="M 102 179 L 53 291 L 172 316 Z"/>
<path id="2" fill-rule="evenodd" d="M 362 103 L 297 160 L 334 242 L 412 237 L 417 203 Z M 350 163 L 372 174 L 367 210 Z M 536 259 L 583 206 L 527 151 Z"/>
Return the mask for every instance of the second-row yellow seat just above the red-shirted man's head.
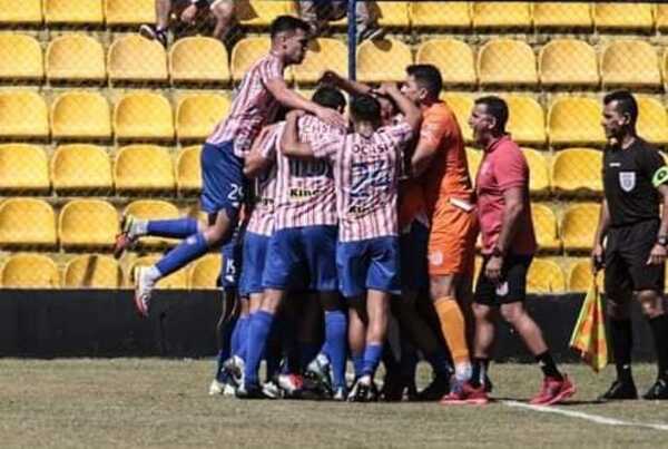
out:
<path id="1" fill-rule="evenodd" d="M 537 85 L 533 50 L 520 40 L 492 39 L 478 53 L 478 77 L 482 86 Z"/>

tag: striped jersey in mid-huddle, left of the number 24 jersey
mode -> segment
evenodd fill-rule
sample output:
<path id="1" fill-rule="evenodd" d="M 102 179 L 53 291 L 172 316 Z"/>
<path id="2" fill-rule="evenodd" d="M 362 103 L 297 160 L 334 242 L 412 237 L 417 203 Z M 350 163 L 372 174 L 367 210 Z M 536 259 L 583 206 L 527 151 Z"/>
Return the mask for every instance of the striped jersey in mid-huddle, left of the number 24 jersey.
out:
<path id="1" fill-rule="evenodd" d="M 320 118 L 306 115 L 297 123 L 301 141 L 312 143 L 318 138 L 343 136 L 345 130 L 328 125 Z M 281 141 L 285 123 L 276 127 Z M 303 226 L 335 226 L 336 193 L 332 166 L 324 159 L 296 159 L 283 156 L 278 145 L 274 154 L 265 157 L 276 157 L 276 201 L 274 203 L 275 228 Z"/>

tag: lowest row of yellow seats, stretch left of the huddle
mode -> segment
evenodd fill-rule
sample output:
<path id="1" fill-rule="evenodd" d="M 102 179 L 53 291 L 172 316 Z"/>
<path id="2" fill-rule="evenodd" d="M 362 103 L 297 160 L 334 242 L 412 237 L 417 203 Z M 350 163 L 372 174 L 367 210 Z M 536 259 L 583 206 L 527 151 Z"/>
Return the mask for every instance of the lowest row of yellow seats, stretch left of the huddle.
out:
<path id="1" fill-rule="evenodd" d="M 85 254 L 67 262 L 62 273 L 52 258 L 43 254 L 17 253 L 0 265 L 3 289 L 120 289 L 132 285 L 137 266 L 155 263 L 157 256 L 135 260 L 126 269 L 114 257 Z M 160 280 L 157 289 L 215 289 L 220 273 L 219 254 L 207 254 L 190 265 Z"/>

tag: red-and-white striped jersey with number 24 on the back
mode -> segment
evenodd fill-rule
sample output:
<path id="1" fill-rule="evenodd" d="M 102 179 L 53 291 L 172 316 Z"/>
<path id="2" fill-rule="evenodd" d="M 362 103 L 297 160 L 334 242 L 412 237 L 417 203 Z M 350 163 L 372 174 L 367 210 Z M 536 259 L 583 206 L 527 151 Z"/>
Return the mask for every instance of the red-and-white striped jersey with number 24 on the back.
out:
<path id="1" fill-rule="evenodd" d="M 334 167 L 341 242 L 399 234 L 399 170 L 412 137 L 413 129 L 402 121 L 369 138 L 353 133 L 312 144 L 314 155 L 328 158 Z"/>

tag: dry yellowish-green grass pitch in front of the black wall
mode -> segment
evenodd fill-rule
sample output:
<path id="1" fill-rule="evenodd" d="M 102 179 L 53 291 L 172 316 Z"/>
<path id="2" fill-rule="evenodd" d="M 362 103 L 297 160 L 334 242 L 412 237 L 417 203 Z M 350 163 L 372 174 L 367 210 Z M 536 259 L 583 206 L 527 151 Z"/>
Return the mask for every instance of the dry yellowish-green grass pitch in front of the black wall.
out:
<path id="1" fill-rule="evenodd" d="M 421 383 L 426 369 L 421 367 Z M 566 367 L 579 392 L 561 410 L 668 424 L 667 403 L 593 403 L 613 377 Z M 0 447 L 660 447 L 668 431 L 509 407 L 537 392 L 533 365 L 492 368 L 495 403 L 240 401 L 206 394 L 213 362 L 0 360 Z M 638 387 L 654 381 L 636 368 Z"/>

